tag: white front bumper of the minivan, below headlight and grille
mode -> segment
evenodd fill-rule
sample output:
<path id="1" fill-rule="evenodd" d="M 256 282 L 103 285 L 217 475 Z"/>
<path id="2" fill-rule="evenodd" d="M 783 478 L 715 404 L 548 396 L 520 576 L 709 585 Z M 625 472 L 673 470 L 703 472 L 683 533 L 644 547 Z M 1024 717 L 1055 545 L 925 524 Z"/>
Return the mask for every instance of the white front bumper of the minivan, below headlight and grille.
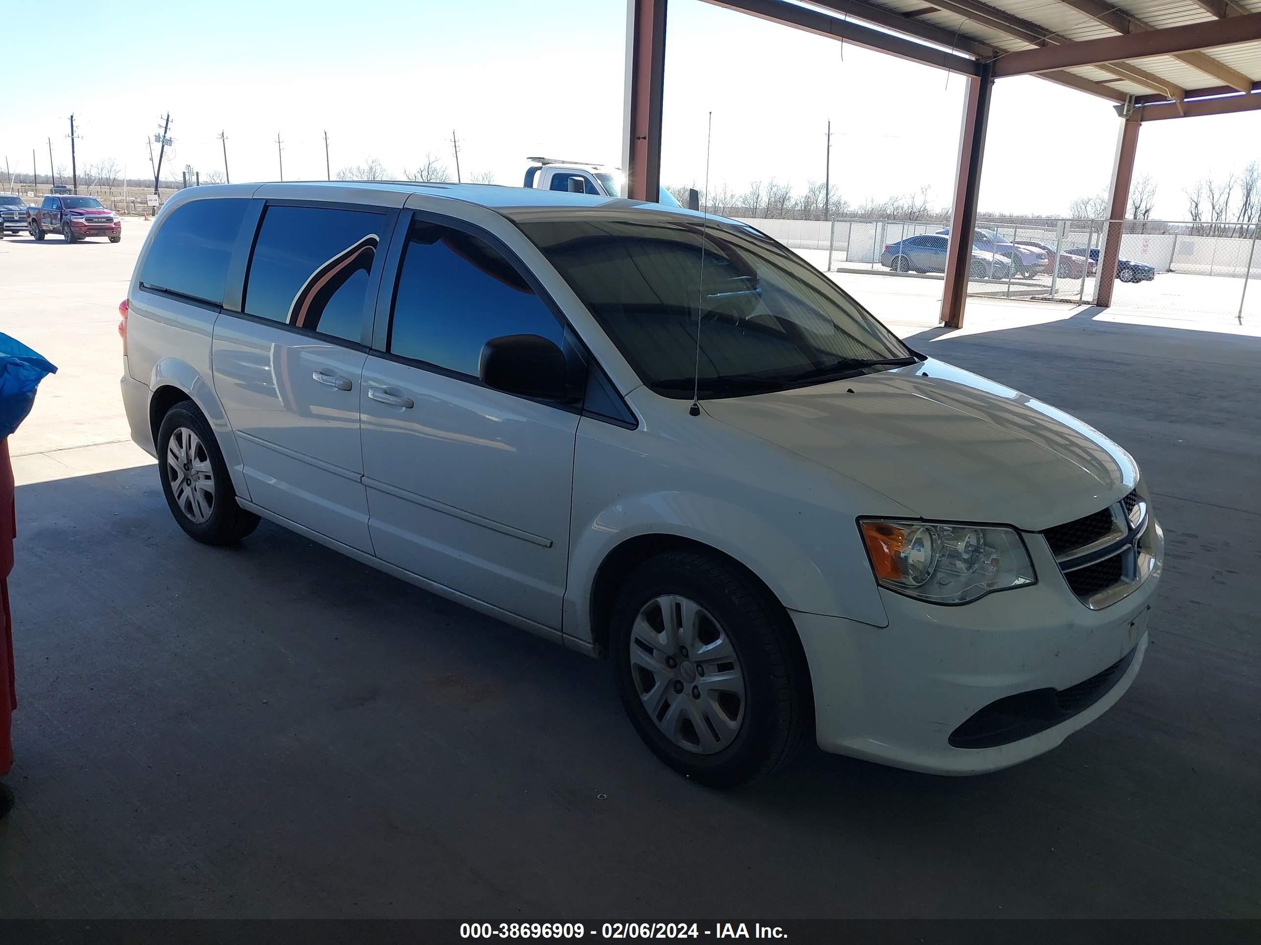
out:
<path id="1" fill-rule="evenodd" d="M 881 591 L 884 627 L 793 612 L 810 663 L 820 747 L 912 771 L 982 774 L 1054 748 L 1111 708 L 1142 665 L 1163 548 L 1142 585 L 1097 611 L 1072 595 L 1048 548 L 1029 551 L 1037 585 L 957 607 Z M 1084 708 L 1058 723 L 994 747 L 951 743 L 960 726 L 999 699 L 1047 689 L 1078 693 L 1126 658 L 1103 677 L 1093 702 L 1083 701 Z"/>

